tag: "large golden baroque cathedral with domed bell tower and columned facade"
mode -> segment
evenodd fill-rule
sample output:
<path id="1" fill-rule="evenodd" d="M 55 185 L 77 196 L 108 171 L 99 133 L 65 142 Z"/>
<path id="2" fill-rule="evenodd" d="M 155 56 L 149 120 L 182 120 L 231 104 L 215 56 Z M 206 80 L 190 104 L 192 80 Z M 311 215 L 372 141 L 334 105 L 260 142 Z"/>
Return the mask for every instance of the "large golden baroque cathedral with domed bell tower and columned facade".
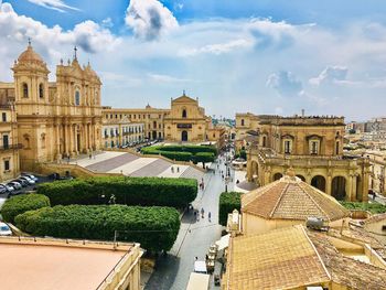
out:
<path id="1" fill-rule="evenodd" d="M 9 101 L 17 111 L 22 170 L 36 162 L 60 160 L 100 148 L 100 79 L 90 65 L 74 58 L 56 66 L 56 82 L 49 82 L 43 58 L 31 43 L 12 67 L 13 83 L 0 90 L 13 90 Z"/>

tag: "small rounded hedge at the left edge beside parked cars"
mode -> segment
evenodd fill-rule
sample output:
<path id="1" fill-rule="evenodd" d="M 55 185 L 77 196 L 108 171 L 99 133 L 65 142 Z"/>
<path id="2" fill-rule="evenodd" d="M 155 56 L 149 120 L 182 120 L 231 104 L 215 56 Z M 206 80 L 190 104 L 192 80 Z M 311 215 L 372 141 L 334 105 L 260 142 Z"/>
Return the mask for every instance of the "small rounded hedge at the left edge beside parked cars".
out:
<path id="1" fill-rule="evenodd" d="M 1 207 L 2 218 L 8 223 L 14 223 L 14 217 L 26 211 L 50 206 L 50 200 L 42 194 L 23 194 L 6 201 Z"/>

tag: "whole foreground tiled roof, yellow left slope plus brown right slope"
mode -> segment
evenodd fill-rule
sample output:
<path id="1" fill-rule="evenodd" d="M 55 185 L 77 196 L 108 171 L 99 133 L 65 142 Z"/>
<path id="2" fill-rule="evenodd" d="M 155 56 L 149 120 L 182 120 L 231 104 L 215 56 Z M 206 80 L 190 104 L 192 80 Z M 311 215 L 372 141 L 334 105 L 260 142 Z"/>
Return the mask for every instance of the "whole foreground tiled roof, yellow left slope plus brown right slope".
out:
<path id="1" fill-rule="evenodd" d="M 296 225 L 232 238 L 224 289 L 293 289 L 331 281 L 342 289 L 386 289 L 386 269 L 342 255 L 329 236 Z"/>

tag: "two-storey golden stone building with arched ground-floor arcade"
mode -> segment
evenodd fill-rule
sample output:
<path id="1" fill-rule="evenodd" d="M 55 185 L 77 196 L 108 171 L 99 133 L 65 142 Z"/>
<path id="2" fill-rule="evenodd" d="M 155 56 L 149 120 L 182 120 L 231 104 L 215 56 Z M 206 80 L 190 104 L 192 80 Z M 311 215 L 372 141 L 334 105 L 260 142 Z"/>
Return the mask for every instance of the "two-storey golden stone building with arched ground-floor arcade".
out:
<path id="1" fill-rule="evenodd" d="M 253 137 L 247 179 L 262 186 L 293 167 L 297 176 L 337 200 L 367 201 L 369 162 L 343 154 L 343 117 L 236 115 L 237 138 Z"/>

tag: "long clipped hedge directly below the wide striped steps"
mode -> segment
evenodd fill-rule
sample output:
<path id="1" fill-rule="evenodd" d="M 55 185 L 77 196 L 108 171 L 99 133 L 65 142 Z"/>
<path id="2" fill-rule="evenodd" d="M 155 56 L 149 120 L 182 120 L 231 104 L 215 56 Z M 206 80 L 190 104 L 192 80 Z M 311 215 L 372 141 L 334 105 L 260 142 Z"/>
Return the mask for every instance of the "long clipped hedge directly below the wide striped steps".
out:
<path id="1" fill-rule="evenodd" d="M 107 204 L 114 194 L 117 204 L 172 206 L 182 208 L 197 195 L 194 179 L 105 176 L 55 181 L 37 186 L 54 205 Z"/>

